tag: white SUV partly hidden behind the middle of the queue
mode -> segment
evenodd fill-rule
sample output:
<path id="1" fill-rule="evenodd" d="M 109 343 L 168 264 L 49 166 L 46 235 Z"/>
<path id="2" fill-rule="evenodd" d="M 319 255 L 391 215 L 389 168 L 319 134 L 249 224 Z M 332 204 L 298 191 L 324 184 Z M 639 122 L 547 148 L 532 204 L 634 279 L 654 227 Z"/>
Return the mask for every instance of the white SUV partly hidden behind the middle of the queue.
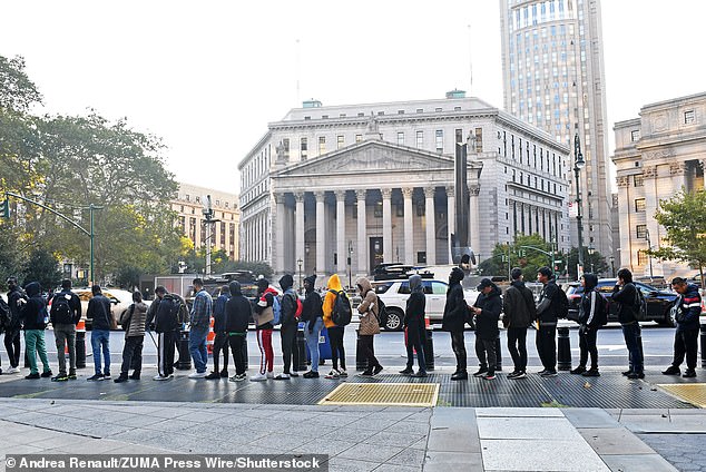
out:
<path id="1" fill-rule="evenodd" d="M 374 281 L 372 282 L 375 293 L 385 304 L 388 312 L 386 331 L 400 331 L 403 327 L 404 309 L 406 299 L 410 297 L 410 282 L 405 279 L 396 281 Z M 426 295 L 426 316 L 434 324 L 441 324 L 443 318 L 443 307 L 447 303 L 447 291 L 449 284 L 433 278 L 423 278 L 424 294 Z M 463 291 L 465 303 L 472 305 L 478 297 L 477 291 Z"/>

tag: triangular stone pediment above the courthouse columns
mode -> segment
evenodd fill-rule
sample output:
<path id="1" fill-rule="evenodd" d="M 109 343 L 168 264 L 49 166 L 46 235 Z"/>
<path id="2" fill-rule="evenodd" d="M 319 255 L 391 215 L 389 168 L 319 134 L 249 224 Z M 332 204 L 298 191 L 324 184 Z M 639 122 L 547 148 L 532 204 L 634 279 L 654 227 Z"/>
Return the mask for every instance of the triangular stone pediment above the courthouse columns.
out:
<path id="1" fill-rule="evenodd" d="M 381 140 L 366 140 L 283 167 L 273 176 L 292 177 L 390 170 L 452 170 L 453 159 L 422 149 Z"/>

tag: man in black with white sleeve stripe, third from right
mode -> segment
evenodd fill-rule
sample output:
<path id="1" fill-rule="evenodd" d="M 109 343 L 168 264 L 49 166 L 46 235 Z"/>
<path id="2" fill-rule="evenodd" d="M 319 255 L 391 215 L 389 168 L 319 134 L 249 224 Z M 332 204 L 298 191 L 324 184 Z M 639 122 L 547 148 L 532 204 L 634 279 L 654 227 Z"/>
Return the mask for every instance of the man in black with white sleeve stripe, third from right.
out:
<path id="1" fill-rule="evenodd" d="M 606 298 L 596 289 L 598 277 L 595 274 L 584 274 L 581 286 L 584 294 L 579 304 L 579 365 L 571 371 L 575 375 L 585 377 L 598 377 L 598 348 L 596 347 L 596 334 L 598 328 L 605 324 Z M 591 356 L 591 368 L 586 370 L 588 355 Z"/>

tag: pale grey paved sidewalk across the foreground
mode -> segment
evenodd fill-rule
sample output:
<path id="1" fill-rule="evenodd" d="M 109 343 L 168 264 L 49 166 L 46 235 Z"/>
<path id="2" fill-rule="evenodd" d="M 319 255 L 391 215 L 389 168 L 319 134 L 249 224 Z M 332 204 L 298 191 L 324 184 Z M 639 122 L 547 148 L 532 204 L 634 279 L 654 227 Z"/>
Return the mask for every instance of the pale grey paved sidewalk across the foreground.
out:
<path id="1" fill-rule="evenodd" d="M 331 471 L 706 470 L 704 410 L 0 399 L 0 453 L 329 454 Z M 668 434 L 659 434 L 667 432 Z M 643 437 L 690 433 L 693 451 Z"/>

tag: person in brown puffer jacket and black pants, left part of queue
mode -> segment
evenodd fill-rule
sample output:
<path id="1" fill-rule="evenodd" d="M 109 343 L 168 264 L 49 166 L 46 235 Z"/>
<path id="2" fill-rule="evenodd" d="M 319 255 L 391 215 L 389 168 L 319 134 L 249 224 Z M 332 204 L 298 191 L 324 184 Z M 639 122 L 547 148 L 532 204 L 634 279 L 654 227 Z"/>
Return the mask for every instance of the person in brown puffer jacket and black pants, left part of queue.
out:
<path id="1" fill-rule="evenodd" d="M 145 342 L 145 321 L 147 318 L 147 305 L 143 302 L 143 294 L 133 292 L 133 304 L 120 315 L 120 325 L 127 326 L 125 331 L 125 346 L 122 347 L 122 365 L 120 375 L 115 383 L 127 382 L 128 378 L 139 380 L 143 371 L 143 345 Z M 134 368 L 128 377 L 128 371 Z"/>

